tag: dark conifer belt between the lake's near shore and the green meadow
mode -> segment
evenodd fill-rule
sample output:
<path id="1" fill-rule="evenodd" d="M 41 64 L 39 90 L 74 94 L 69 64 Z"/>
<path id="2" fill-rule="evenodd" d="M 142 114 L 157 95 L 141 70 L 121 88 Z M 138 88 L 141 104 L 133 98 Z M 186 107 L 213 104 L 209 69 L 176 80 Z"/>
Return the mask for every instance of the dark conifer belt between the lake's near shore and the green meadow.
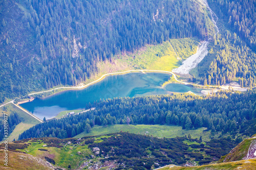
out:
<path id="1" fill-rule="evenodd" d="M 163 102 L 164 100 L 166 103 Z M 242 130 L 254 128 L 253 124 L 248 123 L 256 119 L 255 115 L 251 114 L 255 110 L 255 100 L 255 91 L 218 92 L 212 98 L 191 94 L 115 98 L 95 102 L 93 104 L 93 107 L 96 107 L 94 111 L 62 119 L 52 119 L 35 125 L 22 133 L 19 139 L 44 137 L 50 134 L 52 137 L 54 137 L 53 134 L 56 137 L 60 134 L 60 138 L 73 137 L 86 130 L 86 122 L 91 120 L 99 122 L 99 119 L 101 121 L 103 119 L 102 125 L 112 125 L 111 119 L 116 118 L 118 124 L 124 124 L 126 116 L 131 117 L 135 125 L 155 125 L 161 123 L 159 120 L 166 119 L 168 114 L 175 115 L 172 116 L 175 118 L 172 119 L 170 125 L 183 126 L 184 129 L 206 127 L 207 130 L 212 130 L 212 133 L 215 131 L 223 131 L 223 133 L 240 131 L 240 133 L 251 136 L 255 131 L 241 131 L 239 125 Z M 44 134 L 42 135 L 41 132 Z"/>

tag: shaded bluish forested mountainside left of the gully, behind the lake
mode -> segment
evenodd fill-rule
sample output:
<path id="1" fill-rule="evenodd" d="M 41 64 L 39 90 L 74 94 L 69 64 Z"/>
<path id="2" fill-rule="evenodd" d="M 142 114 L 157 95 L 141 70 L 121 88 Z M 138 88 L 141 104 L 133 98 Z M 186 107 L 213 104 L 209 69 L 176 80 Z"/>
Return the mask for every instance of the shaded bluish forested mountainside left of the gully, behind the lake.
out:
<path id="1" fill-rule="evenodd" d="M 98 61 L 145 44 L 169 38 L 205 39 L 214 32 L 197 1 L 10 0 L 0 4 L 0 102 L 4 96 L 79 84 L 97 72 Z"/>

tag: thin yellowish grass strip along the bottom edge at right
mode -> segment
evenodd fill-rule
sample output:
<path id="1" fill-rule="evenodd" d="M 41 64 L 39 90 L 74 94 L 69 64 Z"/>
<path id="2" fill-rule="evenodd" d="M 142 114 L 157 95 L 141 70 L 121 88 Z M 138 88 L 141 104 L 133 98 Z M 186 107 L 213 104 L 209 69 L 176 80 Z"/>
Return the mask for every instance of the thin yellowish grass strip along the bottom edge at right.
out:
<path id="1" fill-rule="evenodd" d="M 246 170 L 254 170 L 256 167 L 256 159 L 248 159 L 248 160 L 241 160 L 236 162 L 225 162 L 225 163 L 216 163 L 216 164 L 208 164 L 208 165 L 201 165 L 201 166 L 175 166 L 175 165 L 167 165 L 162 168 L 161 170 L 203 170 L 203 169 L 246 169 Z"/>

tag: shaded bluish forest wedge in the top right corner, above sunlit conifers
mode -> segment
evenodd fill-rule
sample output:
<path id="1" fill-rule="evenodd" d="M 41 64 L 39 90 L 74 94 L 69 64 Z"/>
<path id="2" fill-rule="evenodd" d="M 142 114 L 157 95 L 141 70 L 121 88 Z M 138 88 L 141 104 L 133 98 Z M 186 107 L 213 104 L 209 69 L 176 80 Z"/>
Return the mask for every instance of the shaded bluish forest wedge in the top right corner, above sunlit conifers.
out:
<path id="1" fill-rule="evenodd" d="M 254 0 L 208 1 L 228 27 L 256 50 L 256 4 Z"/>

